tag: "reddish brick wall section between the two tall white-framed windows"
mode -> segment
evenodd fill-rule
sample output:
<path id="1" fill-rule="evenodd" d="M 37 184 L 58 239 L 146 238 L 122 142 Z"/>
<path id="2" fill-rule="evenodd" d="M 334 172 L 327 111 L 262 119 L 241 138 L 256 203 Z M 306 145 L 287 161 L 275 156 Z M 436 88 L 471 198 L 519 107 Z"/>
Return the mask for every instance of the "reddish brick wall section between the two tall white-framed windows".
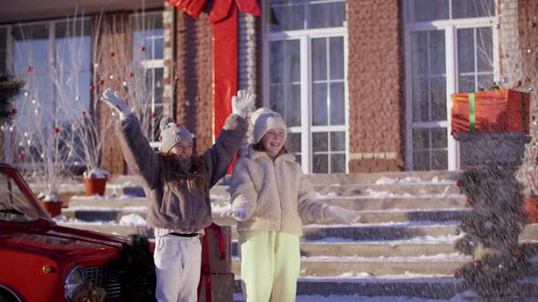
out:
<path id="1" fill-rule="evenodd" d="M 403 168 L 400 1 L 347 1 L 349 172 Z"/>

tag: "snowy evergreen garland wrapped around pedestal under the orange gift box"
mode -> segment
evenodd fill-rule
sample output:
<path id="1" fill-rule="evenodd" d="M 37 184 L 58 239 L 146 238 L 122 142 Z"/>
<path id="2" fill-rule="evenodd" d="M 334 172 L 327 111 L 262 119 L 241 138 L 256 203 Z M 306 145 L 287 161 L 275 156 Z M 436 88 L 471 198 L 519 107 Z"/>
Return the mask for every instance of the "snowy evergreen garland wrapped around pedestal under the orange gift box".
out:
<path id="1" fill-rule="evenodd" d="M 518 243 L 527 219 L 522 208 L 522 185 L 512 177 L 510 186 L 502 186 L 509 179 L 507 173 L 495 165 L 471 168 L 457 183 L 472 211 L 461 221 L 465 236 L 456 242 L 455 249 L 472 255 L 474 260 L 454 276 L 463 277 L 466 286 L 482 297 L 513 294 L 517 280 L 527 273 L 526 256 L 531 255 L 531 247 Z M 500 193 L 501 187 L 504 191 Z"/>

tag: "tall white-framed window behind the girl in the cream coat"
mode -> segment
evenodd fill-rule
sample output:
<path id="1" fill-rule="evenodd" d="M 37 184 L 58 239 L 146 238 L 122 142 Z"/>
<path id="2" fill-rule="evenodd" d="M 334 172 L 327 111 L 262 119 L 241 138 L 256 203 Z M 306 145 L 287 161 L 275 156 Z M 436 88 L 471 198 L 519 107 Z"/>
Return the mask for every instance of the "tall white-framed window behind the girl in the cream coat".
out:
<path id="1" fill-rule="evenodd" d="M 305 173 L 347 172 L 346 1 L 265 1 L 265 106 Z"/>

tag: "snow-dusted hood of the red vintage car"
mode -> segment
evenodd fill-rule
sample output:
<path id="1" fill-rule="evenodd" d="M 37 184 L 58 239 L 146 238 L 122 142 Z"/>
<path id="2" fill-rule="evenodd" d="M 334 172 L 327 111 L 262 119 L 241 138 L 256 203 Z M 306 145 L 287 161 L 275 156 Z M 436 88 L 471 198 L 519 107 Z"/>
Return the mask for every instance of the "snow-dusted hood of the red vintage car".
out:
<path id="1" fill-rule="evenodd" d="M 0 246 L 45 249 L 72 257 L 74 261 L 89 261 L 92 257 L 116 257 L 123 243 L 129 243 L 129 238 L 59 227 L 54 222 L 43 219 L 24 224 L 0 224 Z"/>

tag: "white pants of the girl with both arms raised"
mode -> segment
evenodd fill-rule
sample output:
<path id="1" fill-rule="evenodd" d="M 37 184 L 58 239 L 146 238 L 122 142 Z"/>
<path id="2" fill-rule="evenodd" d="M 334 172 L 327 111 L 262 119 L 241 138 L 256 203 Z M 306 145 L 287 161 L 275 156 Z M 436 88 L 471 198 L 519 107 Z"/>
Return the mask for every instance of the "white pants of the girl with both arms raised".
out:
<path id="1" fill-rule="evenodd" d="M 202 267 L 200 237 L 157 237 L 153 253 L 159 302 L 194 302 Z"/>

